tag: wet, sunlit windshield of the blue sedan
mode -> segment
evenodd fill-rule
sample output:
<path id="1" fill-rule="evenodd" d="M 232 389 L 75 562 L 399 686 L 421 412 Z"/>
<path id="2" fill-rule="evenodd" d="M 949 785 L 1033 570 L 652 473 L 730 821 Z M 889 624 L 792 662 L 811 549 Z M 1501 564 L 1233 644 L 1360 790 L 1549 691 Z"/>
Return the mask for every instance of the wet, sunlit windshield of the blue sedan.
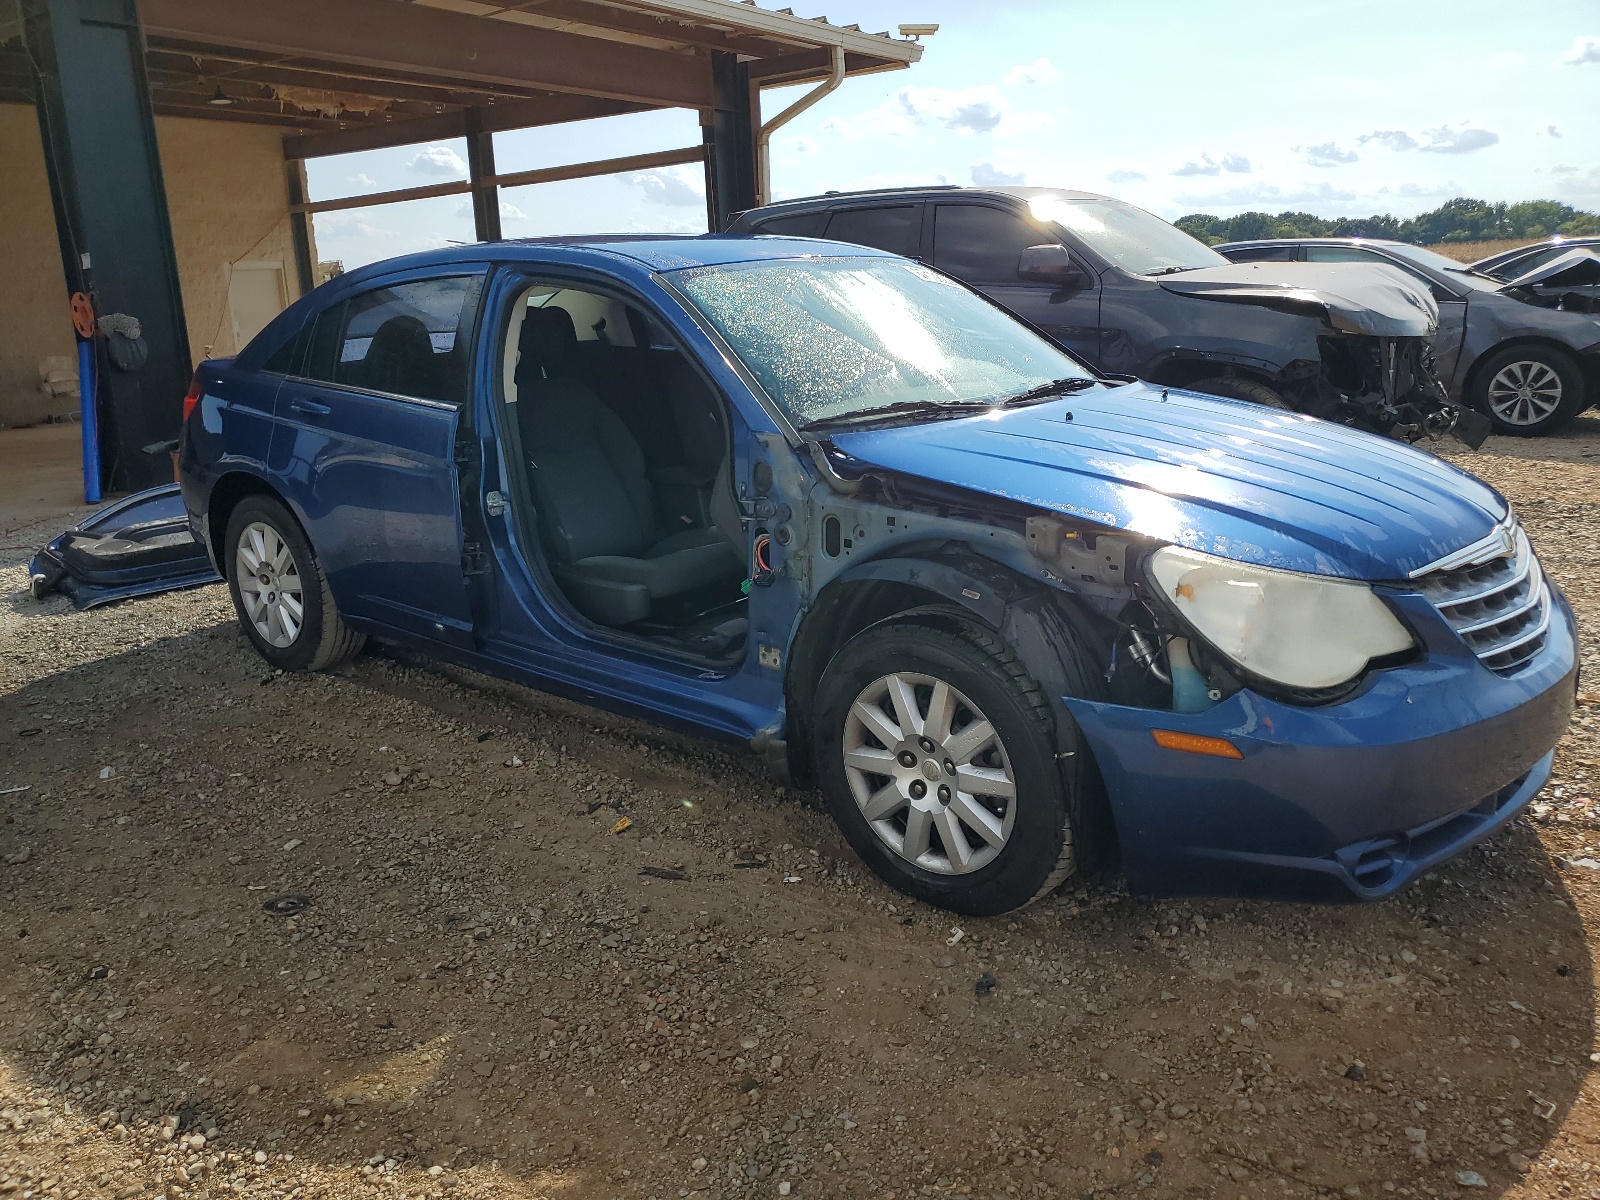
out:
<path id="1" fill-rule="evenodd" d="M 938 416 L 1094 378 L 994 304 L 904 259 L 738 262 L 670 278 L 795 426 L 890 408 Z"/>

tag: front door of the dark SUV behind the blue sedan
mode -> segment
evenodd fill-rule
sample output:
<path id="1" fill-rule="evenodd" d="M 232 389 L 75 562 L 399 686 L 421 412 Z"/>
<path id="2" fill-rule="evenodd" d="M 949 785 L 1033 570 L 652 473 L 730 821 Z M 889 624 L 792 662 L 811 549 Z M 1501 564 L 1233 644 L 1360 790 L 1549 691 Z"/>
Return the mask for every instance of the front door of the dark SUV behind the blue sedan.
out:
<path id="1" fill-rule="evenodd" d="M 1030 246 L 1056 242 L 1014 213 L 987 205 L 938 205 L 933 264 L 971 283 L 997 304 L 1032 322 L 1085 362 L 1099 365 L 1099 288 L 1056 288 L 1018 278 Z M 1085 267 L 1093 280 L 1094 274 Z"/>

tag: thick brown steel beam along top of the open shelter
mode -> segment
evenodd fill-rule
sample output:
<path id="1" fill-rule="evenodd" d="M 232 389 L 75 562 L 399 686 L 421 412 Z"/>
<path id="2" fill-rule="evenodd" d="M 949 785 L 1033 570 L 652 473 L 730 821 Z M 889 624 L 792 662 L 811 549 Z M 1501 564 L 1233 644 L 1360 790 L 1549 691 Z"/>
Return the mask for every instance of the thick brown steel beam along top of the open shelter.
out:
<path id="1" fill-rule="evenodd" d="M 395 0 L 142 0 L 150 35 L 656 106 L 710 102 L 706 59 Z"/>

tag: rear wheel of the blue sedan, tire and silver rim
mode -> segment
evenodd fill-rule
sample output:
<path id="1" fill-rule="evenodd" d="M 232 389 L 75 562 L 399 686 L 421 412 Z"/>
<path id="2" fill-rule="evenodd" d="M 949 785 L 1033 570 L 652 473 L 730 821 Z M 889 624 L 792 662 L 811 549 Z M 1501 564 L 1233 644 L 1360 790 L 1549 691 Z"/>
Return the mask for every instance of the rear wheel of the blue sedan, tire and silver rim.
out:
<path id="1" fill-rule="evenodd" d="M 310 542 L 275 499 L 240 501 L 227 520 L 221 557 L 238 624 L 274 667 L 325 670 L 366 642 L 339 619 Z"/>

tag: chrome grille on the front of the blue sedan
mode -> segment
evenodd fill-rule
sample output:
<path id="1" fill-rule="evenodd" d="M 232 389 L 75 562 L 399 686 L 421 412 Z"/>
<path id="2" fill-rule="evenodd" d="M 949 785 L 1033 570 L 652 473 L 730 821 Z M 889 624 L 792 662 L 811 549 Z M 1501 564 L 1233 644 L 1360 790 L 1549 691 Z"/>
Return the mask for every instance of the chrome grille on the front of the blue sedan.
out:
<path id="1" fill-rule="evenodd" d="M 1550 587 L 1515 518 L 1413 582 L 1498 675 L 1514 675 L 1544 648 Z"/>

